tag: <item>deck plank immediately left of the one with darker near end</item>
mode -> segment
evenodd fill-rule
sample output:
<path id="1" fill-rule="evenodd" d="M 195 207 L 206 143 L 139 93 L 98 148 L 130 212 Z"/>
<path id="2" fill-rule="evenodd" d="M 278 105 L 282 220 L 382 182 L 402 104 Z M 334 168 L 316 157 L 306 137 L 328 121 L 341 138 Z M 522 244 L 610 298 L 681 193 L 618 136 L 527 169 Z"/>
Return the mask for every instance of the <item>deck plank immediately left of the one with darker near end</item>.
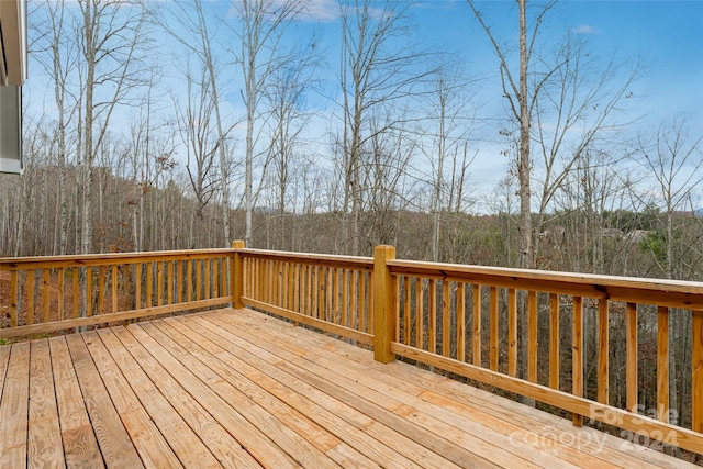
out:
<path id="1" fill-rule="evenodd" d="M 48 340 L 30 343 L 27 466 L 65 467 Z"/>

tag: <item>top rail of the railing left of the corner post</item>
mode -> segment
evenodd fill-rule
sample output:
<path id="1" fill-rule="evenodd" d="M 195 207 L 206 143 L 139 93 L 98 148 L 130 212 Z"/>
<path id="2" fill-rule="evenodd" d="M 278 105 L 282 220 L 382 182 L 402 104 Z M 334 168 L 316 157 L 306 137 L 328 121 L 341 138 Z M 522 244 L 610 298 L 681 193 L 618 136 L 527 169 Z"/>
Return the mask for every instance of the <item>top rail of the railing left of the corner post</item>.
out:
<path id="1" fill-rule="evenodd" d="M 234 254 L 232 248 L 149 250 L 144 253 L 77 254 L 70 256 L 0 257 L 0 270 L 134 264 L 168 259 L 204 259 Z"/>

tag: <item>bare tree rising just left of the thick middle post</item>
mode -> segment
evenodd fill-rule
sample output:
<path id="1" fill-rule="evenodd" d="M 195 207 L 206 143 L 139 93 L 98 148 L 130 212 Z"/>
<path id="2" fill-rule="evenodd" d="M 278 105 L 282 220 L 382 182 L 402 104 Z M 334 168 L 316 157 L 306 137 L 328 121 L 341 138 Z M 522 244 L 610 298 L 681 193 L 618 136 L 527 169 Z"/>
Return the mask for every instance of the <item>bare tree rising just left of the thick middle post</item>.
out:
<path id="1" fill-rule="evenodd" d="M 411 4 L 400 0 L 341 0 L 344 93 L 341 147 L 344 174 L 344 225 L 350 216 L 350 254 L 360 254 L 364 160 L 372 157 L 379 133 L 398 134 L 411 119 L 404 99 L 417 93 L 431 74 L 422 67 L 426 54 L 413 47 Z M 403 48 L 399 49 L 399 44 Z M 422 71 L 417 71 L 417 70 Z"/>

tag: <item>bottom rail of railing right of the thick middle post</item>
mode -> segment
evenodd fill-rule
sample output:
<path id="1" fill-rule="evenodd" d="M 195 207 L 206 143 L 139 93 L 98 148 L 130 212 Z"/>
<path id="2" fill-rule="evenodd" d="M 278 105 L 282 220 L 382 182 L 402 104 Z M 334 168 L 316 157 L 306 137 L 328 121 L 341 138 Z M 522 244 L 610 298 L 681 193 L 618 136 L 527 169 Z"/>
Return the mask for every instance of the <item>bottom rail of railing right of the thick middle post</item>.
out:
<path id="1" fill-rule="evenodd" d="M 676 425 L 659 422 L 644 415 L 612 407 L 585 398 L 579 398 L 563 391 L 488 370 L 454 358 L 435 355 L 398 342 L 391 343 L 391 351 L 398 356 L 420 361 L 425 365 L 431 365 L 436 368 L 442 368 L 446 371 L 480 381 L 486 384 L 495 386 L 505 391 L 535 399 L 539 402 L 558 406 L 578 415 L 583 415 L 605 424 L 615 425 L 620 428 L 633 432 L 633 434 L 643 435 L 665 444 L 671 444 L 690 451 L 703 454 L 703 435 L 688 428 L 681 428 Z"/>

